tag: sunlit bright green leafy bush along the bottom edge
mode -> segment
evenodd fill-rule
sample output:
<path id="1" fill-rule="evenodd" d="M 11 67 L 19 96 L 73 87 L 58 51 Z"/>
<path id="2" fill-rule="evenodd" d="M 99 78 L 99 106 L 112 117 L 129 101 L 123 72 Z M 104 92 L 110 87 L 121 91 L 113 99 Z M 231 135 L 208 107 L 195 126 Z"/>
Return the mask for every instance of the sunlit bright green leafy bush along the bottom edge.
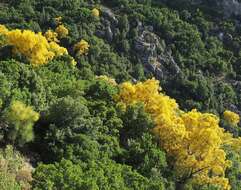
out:
<path id="1" fill-rule="evenodd" d="M 34 172 L 33 189 L 133 189 L 162 190 L 162 183 L 144 178 L 130 167 L 110 160 L 73 164 L 62 160 L 50 165 L 39 165 Z"/>

